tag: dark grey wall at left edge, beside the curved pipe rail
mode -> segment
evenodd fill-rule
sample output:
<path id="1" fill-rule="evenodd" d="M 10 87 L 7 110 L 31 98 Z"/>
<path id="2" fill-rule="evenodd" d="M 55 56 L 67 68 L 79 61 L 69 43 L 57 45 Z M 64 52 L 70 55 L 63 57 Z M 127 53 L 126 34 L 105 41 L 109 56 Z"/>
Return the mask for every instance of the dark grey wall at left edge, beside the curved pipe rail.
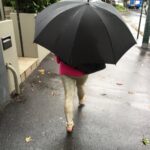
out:
<path id="1" fill-rule="evenodd" d="M 2 48 L 0 44 L 0 109 L 9 101 L 9 89 L 7 81 L 7 72 L 4 64 Z"/>

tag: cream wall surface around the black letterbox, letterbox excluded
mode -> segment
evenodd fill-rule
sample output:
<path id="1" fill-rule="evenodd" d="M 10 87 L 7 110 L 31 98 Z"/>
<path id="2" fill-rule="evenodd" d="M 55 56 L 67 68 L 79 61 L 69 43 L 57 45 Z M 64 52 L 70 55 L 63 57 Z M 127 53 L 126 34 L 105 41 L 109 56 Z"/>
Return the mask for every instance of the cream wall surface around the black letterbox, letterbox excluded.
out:
<path id="1" fill-rule="evenodd" d="M 0 22 L 0 37 L 3 38 L 6 36 L 11 36 L 12 47 L 7 49 L 6 51 L 3 51 L 4 62 L 11 63 L 12 66 L 16 69 L 20 83 L 16 42 L 15 42 L 13 22 L 11 20 L 5 20 Z M 15 89 L 14 79 L 12 73 L 9 70 L 7 71 L 7 75 L 9 83 L 9 92 L 11 93 Z"/>

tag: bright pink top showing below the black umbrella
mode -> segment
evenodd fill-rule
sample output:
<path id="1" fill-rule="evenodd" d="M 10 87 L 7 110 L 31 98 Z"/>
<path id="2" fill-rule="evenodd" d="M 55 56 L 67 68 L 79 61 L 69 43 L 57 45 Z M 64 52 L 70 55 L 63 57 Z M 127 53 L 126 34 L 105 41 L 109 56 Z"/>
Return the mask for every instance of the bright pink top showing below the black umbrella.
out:
<path id="1" fill-rule="evenodd" d="M 80 77 L 83 76 L 84 73 L 70 67 L 69 65 L 64 64 L 58 57 L 56 57 L 57 63 L 59 63 L 59 74 L 60 75 L 68 75 L 68 76 L 76 76 Z"/>

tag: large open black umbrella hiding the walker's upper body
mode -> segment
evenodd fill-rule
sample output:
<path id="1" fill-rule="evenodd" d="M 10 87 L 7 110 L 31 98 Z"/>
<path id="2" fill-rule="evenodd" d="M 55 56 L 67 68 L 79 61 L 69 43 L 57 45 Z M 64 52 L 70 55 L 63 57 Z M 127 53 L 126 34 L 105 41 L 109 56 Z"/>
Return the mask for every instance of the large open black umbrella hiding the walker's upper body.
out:
<path id="1" fill-rule="evenodd" d="M 104 2 L 58 2 L 36 17 L 35 43 L 85 73 L 116 64 L 136 42 L 120 14 Z"/>

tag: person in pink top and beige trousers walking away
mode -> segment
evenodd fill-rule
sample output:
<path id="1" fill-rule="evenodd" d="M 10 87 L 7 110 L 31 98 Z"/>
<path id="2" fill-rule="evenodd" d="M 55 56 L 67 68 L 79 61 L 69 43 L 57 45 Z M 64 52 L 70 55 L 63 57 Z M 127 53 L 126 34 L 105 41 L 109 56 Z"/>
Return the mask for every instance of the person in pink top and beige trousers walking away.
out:
<path id="1" fill-rule="evenodd" d="M 57 56 L 56 61 L 59 64 L 59 74 L 61 75 L 65 91 L 64 112 L 66 117 L 66 130 L 68 133 L 71 133 L 74 128 L 73 99 L 75 95 L 75 89 L 77 88 L 79 107 L 83 107 L 85 101 L 84 84 L 87 81 L 88 75 L 65 64 Z"/>

